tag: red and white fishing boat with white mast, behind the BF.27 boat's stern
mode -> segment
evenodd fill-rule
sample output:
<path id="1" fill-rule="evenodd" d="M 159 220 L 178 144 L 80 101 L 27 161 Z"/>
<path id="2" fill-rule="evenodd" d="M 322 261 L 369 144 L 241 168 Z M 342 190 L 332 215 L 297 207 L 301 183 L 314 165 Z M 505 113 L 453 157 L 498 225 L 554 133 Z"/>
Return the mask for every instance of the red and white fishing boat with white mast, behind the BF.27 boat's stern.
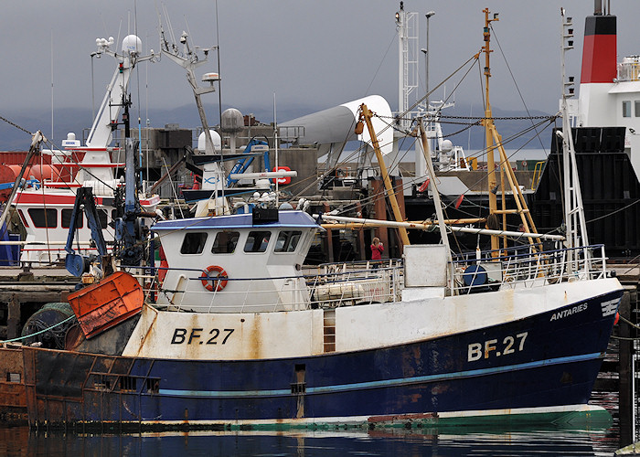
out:
<path id="1" fill-rule="evenodd" d="M 82 186 L 93 189 L 99 207 L 98 215 L 103 236 L 109 241 L 115 239 L 110 224 L 118 217 L 115 210 L 116 199 L 118 189 L 123 183 L 117 178 L 115 170 L 123 167 L 123 163 L 118 161 L 123 152 L 119 147 L 111 146 L 113 131 L 121 124 L 118 119 L 123 110 L 126 113 L 126 128 L 129 128 L 130 101 L 126 100 L 125 94 L 135 65 L 155 59 L 156 56 L 141 55 L 142 42 L 134 35 L 123 38 L 121 52 L 112 51 L 112 37 L 98 38 L 96 43 L 96 55 L 112 56 L 116 60 L 116 68 L 91 126 L 86 145 L 82 146 L 71 133 L 62 143 L 64 150 L 39 151 L 52 157 L 51 162 L 54 165 L 51 166 L 54 172 L 49 173 L 50 179 L 30 180 L 28 186 L 19 190 L 16 186 L 16 192 L 11 197 L 12 206 L 16 208 L 27 233 L 20 256 L 20 260 L 27 264 L 48 264 L 64 260 L 65 244 L 71 226 L 70 215 L 76 192 Z M 112 160 L 112 157 L 115 160 Z M 27 177 L 28 175 L 27 170 Z M 18 183 L 20 177 L 17 179 Z M 144 196 L 139 202 L 144 212 L 155 217 L 155 208 L 160 203 L 158 196 Z M 148 219 L 142 219 L 142 223 L 148 224 Z M 79 220 L 76 228 L 80 251 L 95 253 L 95 248 L 91 246 L 91 230 L 88 223 Z"/>

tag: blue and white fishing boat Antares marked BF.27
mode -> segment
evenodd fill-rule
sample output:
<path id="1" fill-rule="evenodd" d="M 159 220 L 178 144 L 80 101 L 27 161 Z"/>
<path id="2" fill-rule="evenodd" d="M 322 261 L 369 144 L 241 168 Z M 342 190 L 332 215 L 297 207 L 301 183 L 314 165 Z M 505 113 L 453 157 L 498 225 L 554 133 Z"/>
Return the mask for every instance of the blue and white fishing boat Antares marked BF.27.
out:
<path id="1" fill-rule="evenodd" d="M 485 9 L 487 67 L 491 21 Z M 497 138 L 489 75 L 484 122 L 487 137 Z M 359 107 L 388 185 L 374 117 Z M 420 132 L 434 176 L 422 122 Z M 563 138 L 574 180 L 571 135 Z M 78 324 L 64 349 L 23 348 L 30 425 L 608 424 L 608 412 L 588 401 L 623 288 L 603 246 L 584 242 L 580 206 L 568 207 L 566 238 L 537 233 L 519 206 L 522 232 L 451 228 L 492 238 L 491 250 L 452 255 L 435 179 L 430 186 L 443 242 L 409 245 L 406 228 L 416 224 L 391 222 L 404 242 L 402 259 L 375 269 L 304 267 L 321 223 L 340 220 L 332 214 L 265 202 L 248 214 L 157 221 L 153 242 L 165 255 L 157 282 L 145 290 L 147 268 L 121 264 L 69 295 Z M 579 184 L 569 189 L 567 204 L 579 203 Z M 507 237 L 529 243 L 507 244 Z"/>

